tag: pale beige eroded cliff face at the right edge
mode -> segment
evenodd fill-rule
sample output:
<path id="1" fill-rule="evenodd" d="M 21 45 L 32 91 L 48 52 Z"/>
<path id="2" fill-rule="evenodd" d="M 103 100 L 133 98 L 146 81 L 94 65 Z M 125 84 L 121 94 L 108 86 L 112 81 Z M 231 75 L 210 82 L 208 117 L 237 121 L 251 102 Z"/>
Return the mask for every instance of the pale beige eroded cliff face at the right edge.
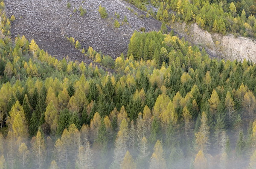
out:
<path id="1" fill-rule="evenodd" d="M 197 24 L 172 23 L 172 28 L 190 41 L 192 45 L 199 45 L 213 57 L 256 62 L 256 40 L 246 37 L 235 37 L 232 34 L 222 36 L 210 34 L 202 30 Z"/>

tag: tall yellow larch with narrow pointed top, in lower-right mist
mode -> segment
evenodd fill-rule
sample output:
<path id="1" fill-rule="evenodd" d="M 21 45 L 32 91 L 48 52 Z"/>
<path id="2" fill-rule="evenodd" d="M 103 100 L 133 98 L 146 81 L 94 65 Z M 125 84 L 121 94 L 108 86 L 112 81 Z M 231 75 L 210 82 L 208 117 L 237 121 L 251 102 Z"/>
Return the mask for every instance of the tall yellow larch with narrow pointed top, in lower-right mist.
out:
<path id="1" fill-rule="evenodd" d="M 205 112 L 202 113 L 201 126 L 199 132 L 195 133 L 195 140 L 198 148 L 202 151 L 208 149 L 209 146 L 209 126 L 207 125 L 207 115 Z"/>

